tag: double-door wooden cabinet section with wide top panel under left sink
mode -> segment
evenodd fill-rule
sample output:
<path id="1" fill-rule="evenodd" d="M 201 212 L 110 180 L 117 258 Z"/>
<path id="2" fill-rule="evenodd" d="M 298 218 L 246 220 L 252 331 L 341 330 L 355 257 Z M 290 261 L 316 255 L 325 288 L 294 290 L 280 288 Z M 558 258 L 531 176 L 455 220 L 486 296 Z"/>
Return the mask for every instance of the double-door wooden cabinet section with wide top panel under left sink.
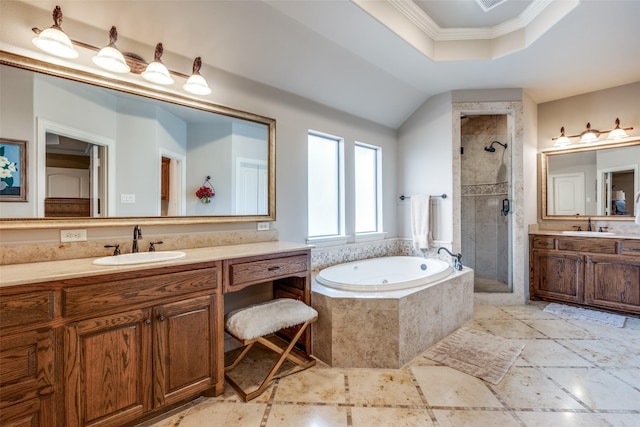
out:
<path id="1" fill-rule="evenodd" d="M 220 268 L 188 268 L 63 289 L 63 311 L 83 317 L 64 326 L 66 425 L 121 426 L 223 392 Z"/>

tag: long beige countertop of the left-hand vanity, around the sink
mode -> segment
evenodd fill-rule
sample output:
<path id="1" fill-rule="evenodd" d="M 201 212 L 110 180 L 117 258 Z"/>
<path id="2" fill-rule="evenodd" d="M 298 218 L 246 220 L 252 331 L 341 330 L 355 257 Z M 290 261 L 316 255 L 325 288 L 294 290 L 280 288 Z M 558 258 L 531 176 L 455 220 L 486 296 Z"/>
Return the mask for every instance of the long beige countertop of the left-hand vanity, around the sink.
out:
<path id="1" fill-rule="evenodd" d="M 93 264 L 93 260 L 97 257 L 61 261 L 43 261 L 26 264 L 9 264 L 0 266 L 0 288 L 49 282 L 53 280 L 72 279 L 76 277 L 99 276 L 102 274 L 113 274 L 123 271 L 152 269 L 166 267 L 168 265 L 185 265 L 198 262 L 282 253 L 310 248 L 311 246 L 301 243 L 261 242 L 183 249 L 182 251 L 186 253 L 186 256 L 183 258 L 145 264 L 128 264 L 118 266 L 95 265 Z"/>

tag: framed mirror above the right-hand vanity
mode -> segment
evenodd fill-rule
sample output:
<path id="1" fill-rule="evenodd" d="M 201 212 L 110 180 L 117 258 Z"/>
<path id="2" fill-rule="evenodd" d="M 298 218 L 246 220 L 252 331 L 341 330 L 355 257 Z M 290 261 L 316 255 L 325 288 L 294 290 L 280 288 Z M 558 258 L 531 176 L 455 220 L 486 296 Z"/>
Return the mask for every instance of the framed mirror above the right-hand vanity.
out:
<path id="1" fill-rule="evenodd" d="M 543 219 L 632 221 L 640 139 L 540 153 Z"/>

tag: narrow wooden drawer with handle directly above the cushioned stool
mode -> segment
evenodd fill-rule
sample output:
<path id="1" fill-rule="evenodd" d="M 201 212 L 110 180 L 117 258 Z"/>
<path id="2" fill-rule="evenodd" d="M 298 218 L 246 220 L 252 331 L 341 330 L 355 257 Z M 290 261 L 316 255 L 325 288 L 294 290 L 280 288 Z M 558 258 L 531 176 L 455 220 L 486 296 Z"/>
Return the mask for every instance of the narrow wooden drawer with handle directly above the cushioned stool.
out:
<path id="1" fill-rule="evenodd" d="M 254 283 L 306 273 L 309 270 L 309 258 L 307 255 L 296 255 L 259 261 L 230 262 L 227 268 L 228 283 L 225 284 L 225 292 L 231 292 Z"/>

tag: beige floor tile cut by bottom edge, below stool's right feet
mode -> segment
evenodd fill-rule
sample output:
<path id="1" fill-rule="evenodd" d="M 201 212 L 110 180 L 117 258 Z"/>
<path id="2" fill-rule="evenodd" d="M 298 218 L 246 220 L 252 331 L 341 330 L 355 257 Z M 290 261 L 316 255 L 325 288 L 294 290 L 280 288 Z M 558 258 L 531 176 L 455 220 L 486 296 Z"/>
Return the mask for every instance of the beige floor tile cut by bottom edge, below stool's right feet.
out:
<path id="1" fill-rule="evenodd" d="M 225 424 L 216 425 L 225 426 Z M 255 427 L 259 426 L 260 424 L 257 424 Z M 347 408 L 316 405 L 273 405 L 267 420 L 267 427 L 301 426 L 346 427 Z"/>

